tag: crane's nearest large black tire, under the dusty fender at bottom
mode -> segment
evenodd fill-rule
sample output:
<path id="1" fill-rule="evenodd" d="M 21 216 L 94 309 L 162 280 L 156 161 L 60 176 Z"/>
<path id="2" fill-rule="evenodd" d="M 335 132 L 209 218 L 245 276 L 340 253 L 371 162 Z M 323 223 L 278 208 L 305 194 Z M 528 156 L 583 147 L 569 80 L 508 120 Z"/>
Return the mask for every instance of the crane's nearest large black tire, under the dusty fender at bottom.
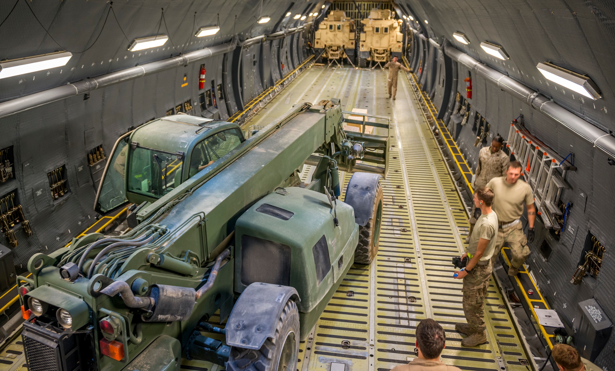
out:
<path id="1" fill-rule="evenodd" d="M 295 371 L 299 359 L 299 311 L 288 300 L 277 322 L 276 335 L 260 349 L 231 346 L 228 371 Z"/>

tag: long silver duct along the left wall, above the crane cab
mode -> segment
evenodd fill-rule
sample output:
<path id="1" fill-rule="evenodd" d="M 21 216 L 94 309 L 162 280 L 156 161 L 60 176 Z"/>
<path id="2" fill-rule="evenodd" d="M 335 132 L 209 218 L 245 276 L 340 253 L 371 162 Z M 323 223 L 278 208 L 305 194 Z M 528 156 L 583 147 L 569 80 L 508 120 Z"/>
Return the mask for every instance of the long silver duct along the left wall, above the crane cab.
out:
<path id="1" fill-rule="evenodd" d="M 159 73 L 165 70 L 171 70 L 179 66 L 186 66 L 189 63 L 204 60 L 214 55 L 228 53 L 234 50 L 236 46 L 237 38 L 235 37 L 232 41 L 224 44 L 193 50 L 192 52 L 187 52 L 175 57 L 125 68 L 124 70 L 103 74 L 95 78 L 84 79 L 52 89 L 43 90 L 42 92 L 26 95 L 25 97 L 7 100 L 6 102 L 0 103 L 0 118 L 57 102 L 58 100 L 74 97 L 75 95 L 85 94 L 92 90 L 100 89 L 101 87 L 107 87 L 118 84 L 119 82 L 137 79 L 141 76 Z"/>

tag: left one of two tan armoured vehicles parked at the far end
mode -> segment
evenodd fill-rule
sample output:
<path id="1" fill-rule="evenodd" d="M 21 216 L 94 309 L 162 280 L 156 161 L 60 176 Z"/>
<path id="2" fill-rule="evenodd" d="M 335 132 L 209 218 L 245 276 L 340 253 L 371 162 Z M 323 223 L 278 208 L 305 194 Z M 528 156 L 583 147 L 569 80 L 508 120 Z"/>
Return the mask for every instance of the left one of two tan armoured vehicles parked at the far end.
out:
<path id="1" fill-rule="evenodd" d="M 314 33 L 314 49 L 316 55 L 328 63 L 335 60 L 354 59 L 355 27 L 352 18 L 346 18 L 343 10 L 331 10 L 323 19 Z M 319 61 L 320 62 L 320 61 Z M 339 63 L 338 63 L 339 64 Z M 352 62 L 351 62 L 352 64 Z"/>

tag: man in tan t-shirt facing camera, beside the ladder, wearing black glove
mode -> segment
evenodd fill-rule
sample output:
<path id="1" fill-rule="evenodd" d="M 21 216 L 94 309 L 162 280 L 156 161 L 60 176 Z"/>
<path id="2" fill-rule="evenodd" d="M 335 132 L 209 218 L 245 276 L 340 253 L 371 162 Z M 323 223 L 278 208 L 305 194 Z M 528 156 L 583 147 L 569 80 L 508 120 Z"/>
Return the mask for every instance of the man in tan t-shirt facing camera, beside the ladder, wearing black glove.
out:
<path id="1" fill-rule="evenodd" d="M 517 276 L 519 267 L 530 255 L 528 241 L 534 241 L 534 220 L 536 208 L 534 196 L 528 183 L 519 180 L 523 166 L 518 161 L 511 161 L 506 170 L 506 177 L 497 177 L 487 183 L 493 189 L 495 199 L 493 210 L 498 214 L 498 242 L 496 252 L 493 254 L 493 263 L 502 249 L 504 242 L 510 245 L 512 259 L 510 260 L 509 276 Z M 523 215 L 523 205 L 528 209 L 528 236 L 523 233 L 522 223 L 519 219 Z"/>

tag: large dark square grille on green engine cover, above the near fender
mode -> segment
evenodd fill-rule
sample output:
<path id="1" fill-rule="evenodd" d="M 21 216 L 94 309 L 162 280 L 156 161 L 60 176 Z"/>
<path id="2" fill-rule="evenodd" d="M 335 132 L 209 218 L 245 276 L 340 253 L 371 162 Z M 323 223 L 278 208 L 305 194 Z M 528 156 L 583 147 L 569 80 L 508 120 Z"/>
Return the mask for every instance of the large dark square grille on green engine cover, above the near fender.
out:
<path id="1" fill-rule="evenodd" d="M 241 236 L 241 283 L 290 284 L 290 247 L 258 237 Z"/>

